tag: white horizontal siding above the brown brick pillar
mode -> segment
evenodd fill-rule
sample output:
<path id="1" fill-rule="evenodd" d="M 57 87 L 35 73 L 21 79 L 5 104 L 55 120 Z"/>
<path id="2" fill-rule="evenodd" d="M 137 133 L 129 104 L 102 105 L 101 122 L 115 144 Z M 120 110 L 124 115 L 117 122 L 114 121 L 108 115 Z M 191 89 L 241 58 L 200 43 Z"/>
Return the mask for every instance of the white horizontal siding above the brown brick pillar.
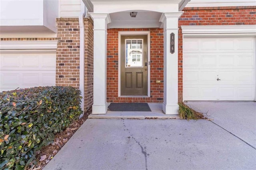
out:
<path id="1" fill-rule="evenodd" d="M 79 17 L 81 0 L 60 0 L 60 17 Z"/>

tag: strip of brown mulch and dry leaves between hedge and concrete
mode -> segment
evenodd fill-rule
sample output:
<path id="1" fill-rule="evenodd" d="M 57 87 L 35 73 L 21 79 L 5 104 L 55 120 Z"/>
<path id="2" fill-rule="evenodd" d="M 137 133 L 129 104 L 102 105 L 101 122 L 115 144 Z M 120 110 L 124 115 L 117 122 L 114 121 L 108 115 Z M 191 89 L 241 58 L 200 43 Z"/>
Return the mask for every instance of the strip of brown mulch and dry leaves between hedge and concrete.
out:
<path id="1" fill-rule="evenodd" d="M 68 140 L 72 137 L 72 135 L 80 128 L 80 126 L 86 121 L 88 115 L 92 113 L 92 108 L 90 108 L 84 116 L 74 121 L 66 130 L 61 133 L 55 135 L 54 143 L 49 144 L 48 146 L 42 147 L 40 151 L 38 151 L 36 155 L 37 165 L 34 165 L 30 170 L 42 170 L 44 166 L 58 153 L 58 151 L 68 142 Z"/>

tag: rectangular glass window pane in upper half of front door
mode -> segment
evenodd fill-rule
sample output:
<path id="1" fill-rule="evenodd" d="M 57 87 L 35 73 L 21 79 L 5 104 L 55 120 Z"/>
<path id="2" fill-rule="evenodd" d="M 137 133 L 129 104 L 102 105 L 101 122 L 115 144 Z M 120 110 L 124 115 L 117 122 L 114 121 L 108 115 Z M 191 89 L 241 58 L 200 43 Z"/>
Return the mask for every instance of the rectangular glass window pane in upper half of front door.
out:
<path id="1" fill-rule="evenodd" d="M 125 67 L 142 67 L 142 40 L 125 40 Z"/>

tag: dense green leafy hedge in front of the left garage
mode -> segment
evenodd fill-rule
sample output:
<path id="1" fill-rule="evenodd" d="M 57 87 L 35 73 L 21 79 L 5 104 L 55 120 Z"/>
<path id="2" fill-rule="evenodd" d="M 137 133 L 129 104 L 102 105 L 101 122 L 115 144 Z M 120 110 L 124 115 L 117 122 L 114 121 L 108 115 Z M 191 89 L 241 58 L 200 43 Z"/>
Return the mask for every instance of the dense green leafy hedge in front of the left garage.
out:
<path id="1" fill-rule="evenodd" d="M 0 169 L 36 164 L 36 151 L 79 118 L 80 91 L 34 87 L 0 93 Z"/>

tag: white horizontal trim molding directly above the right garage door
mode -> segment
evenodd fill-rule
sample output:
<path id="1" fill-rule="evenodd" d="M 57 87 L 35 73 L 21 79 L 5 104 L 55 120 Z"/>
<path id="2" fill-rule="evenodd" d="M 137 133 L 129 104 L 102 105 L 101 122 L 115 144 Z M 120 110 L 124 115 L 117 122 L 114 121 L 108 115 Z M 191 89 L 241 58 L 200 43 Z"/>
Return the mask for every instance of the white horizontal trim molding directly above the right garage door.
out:
<path id="1" fill-rule="evenodd" d="M 183 36 L 246 34 L 256 35 L 256 25 L 231 26 L 181 26 Z"/>

